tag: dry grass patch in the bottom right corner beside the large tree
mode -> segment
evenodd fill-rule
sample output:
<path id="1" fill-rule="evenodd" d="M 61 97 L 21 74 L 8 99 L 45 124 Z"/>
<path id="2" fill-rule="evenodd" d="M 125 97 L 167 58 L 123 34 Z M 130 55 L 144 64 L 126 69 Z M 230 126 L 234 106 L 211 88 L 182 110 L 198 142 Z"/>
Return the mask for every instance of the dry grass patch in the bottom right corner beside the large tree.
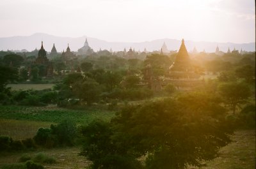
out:
<path id="1" fill-rule="evenodd" d="M 220 157 L 202 169 L 255 169 L 255 130 L 236 131 L 232 143 L 220 149 Z"/>

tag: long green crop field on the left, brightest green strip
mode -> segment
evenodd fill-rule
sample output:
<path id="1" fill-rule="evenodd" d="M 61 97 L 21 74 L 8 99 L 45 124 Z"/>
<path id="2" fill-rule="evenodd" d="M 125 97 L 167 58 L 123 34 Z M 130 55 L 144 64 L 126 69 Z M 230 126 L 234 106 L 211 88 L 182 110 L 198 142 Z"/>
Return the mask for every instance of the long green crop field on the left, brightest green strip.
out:
<path id="1" fill-rule="evenodd" d="M 100 109 L 70 110 L 67 108 L 0 106 L 0 119 L 15 119 L 22 121 L 61 122 L 70 119 L 79 124 L 87 124 L 93 119 L 109 121 L 114 112 Z"/>

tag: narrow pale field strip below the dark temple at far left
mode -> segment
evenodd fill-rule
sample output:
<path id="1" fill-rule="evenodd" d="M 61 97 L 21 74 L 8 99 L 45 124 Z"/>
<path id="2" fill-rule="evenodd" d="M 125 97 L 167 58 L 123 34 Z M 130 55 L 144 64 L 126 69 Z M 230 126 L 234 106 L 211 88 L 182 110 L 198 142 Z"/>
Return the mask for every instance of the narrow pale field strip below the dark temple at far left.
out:
<path id="1" fill-rule="evenodd" d="M 7 87 L 12 87 L 13 91 L 19 90 L 44 90 L 44 89 L 52 89 L 55 84 L 8 84 Z"/>

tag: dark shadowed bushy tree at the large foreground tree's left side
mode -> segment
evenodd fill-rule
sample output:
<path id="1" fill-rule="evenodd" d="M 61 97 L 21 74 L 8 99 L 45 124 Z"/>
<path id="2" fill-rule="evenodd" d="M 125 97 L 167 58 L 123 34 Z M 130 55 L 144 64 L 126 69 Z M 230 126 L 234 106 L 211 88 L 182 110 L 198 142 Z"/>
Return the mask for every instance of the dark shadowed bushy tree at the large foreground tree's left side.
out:
<path id="1" fill-rule="evenodd" d="M 140 169 L 141 164 L 135 156 L 128 155 L 113 143 L 111 124 L 93 121 L 82 129 L 84 140 L 82 156 L 93 161 L 92 169 Z M 123 147 L 125 149 L 125 147 Z"/>

